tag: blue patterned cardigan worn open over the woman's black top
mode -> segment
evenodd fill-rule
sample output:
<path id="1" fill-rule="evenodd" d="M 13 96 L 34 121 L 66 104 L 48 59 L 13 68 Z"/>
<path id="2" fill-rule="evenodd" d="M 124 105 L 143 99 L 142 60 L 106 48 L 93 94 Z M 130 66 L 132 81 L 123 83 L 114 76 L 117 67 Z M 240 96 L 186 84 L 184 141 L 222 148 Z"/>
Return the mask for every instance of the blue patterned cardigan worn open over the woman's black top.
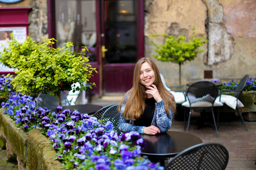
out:
<path id="1" fill-rule="evenodd" d="M 126 120 L 122 116 L 127 99 L 128 96 L 125 97 L 125 100 L 123 101 L 121 107 L 118 129 L 121 130 L 123 133 L 127 133 L 129 131 L 137 131 L 138 133 L 143 134 L 144 128 L 146 128 L 146 126 L 135 126 L 133 120 Z M 168 118 L 166 111 L 164 109 L 163 100 L 159 101 L 158 103 L 155 103 L 155 112 L 151 125 L 158 127 L 161 133 L 166 132 L 168 129 L 171 128 L 173 116 L 174 114 L 170 110 L 170 118 Z"/>

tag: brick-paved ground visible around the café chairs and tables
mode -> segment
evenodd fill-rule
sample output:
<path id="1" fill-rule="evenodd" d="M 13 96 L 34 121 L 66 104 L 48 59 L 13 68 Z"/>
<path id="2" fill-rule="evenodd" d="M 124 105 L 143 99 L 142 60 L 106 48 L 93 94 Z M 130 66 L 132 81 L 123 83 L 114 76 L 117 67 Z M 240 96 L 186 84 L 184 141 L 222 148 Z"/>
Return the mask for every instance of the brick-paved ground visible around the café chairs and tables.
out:
<path id="1" fill-rule="evenodd" d="M 105 106 L 118 103 L 119 100 L 120 97 L 110 97 L 106 100 L 93 100 L 92 104 Z M 209 126 L 194 129 L 199 117 L 199 113 L 193 112 L 188 133 L 197 135 L 204 143 L 217 142 L 224 145 L 229 151 L 229 163 L 226 169 L 256 169 L 256 122 L 245 122 L 248 129 L 246 131 L 237 115 L 228 115 L 220 121 L 218 129 L 220 137 L 217 138 L 216 131 Z M 228 121 L 229 117 L 231 121 Z M 178 120 L 172 122 L 170 130 L 184 131 L 184 122 Z M 18 169 L 17 163 L 7 162 L 6 150 L 1 148 L 0 169 Z"/>

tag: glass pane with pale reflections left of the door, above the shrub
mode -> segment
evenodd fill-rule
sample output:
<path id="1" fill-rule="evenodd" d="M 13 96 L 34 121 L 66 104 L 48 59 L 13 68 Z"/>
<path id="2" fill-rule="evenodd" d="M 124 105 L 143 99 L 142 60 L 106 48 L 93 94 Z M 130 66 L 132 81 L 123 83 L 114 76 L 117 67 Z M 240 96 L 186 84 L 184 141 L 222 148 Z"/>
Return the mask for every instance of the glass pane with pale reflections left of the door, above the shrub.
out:
<path id="1" fill-rule="evenodd" d="M 96 61 L 96 13 L 95 0 L 56 0 L 57 47 L 73 42 L 73 52 L 80 53 L 87 46 L 90 61 Z"/>

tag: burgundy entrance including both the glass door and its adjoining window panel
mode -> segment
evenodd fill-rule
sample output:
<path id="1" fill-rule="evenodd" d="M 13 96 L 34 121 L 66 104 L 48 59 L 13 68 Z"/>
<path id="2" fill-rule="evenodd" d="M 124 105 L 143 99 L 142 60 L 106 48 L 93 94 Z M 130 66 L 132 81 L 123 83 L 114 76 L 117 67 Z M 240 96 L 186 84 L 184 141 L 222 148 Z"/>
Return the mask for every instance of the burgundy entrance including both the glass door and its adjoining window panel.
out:
<path id="1" fill-rule="evenodd" d="M 57 47 L 74 42 L 74 52 L 87 46 L 90 64 L 96 68 L 89 81 L 92 94 L 123 93 L 133 84 L 133 69 L 144 57 L 143 1 L 47 0 L 49 36 Z M 55 25 L 55 27 L 54 27 Z M 51 29 L 50 29 L 51 30 Z"/>

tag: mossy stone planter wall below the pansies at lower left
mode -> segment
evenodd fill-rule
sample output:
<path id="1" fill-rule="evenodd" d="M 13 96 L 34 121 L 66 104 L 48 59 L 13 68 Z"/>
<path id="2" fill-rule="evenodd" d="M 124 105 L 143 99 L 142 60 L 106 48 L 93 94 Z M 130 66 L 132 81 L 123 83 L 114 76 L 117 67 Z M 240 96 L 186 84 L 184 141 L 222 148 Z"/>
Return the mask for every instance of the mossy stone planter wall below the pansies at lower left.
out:
<path id="1" fill-rule="evenodd" d="M 64 169 L 56 152 L 39 129 L 28 134 L 17 128 L 9 115 L 0 109 L 0 137 L 6 141 L 7 157 L 16 156 L 19 169 Z"/>

